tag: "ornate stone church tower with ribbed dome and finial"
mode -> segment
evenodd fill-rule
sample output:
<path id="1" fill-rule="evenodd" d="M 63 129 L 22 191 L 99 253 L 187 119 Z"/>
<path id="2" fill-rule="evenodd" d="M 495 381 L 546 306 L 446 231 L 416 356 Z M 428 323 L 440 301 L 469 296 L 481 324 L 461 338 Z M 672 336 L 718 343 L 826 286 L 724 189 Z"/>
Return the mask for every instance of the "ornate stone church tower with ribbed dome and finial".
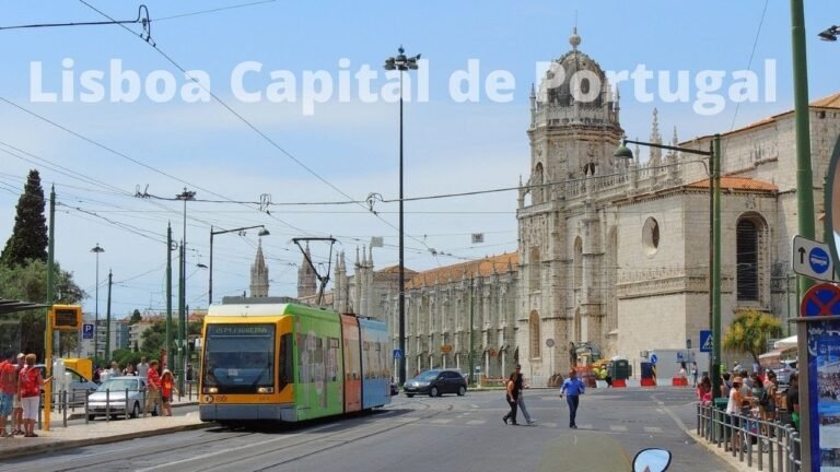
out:
<path id="1" fill-rule="evenodd" d="M 623 130 L 618 92 L 579 49 L 576 28 L 569 44 L 571 50 L 532 88 L 530 176 L 517 202 L 517 359 L 528 364 L 532 384 L 568 371 L 575 363 L 569 347 L 603 343 L 608 327 L 603 318 L 610 266 L 604 255 L 611 239 L 602 189 L 626 166 L 612 158 Z"/>

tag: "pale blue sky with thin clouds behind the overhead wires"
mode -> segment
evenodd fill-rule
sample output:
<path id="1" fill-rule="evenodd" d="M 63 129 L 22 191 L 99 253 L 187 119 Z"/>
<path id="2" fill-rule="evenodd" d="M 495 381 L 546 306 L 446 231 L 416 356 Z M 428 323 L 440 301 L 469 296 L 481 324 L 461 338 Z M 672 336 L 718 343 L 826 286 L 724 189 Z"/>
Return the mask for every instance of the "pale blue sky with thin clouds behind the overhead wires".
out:
<path id="1" fill-rule="evenodd" d="M 138 14 L 135 1 L 89 3 L 117 20 Z M 96 243 L 105 248 L 100 283 L 114 271 L 112 312 L 121 317 L 135 308 L 165 307 L 163 241 L 167 222 L 180 239 L 183 203 L 135 198 L 138 188 L 166 198 L 185 187 L 197 192 L 186 220 L 191 307 L 207 306 L 208 271 L 197 264 L 209 264 L 211 225 L 269 228 L 262 246 L 271 295 L 295 293 L 301 256 L 292 237 L 332 235 L 339 239 L 335 250 L 347 252 L 352 264 L 358 247 L 382 236 L 385 247 L 374 249 L 374 261 L 378 268 L 396 264 L 396 203 L 376 203 L 378 217 L 364 204 L 278 203 L 364 201 L 370 193 L 397 198 L 398 105 L 389 99 L 395 81 L 384 75 L 382 63 L 400 44 L 409 55 L 421 52 L 428 60 L 428 99 L 418 99 L 416 72 L 415 87 L 406 88 L 411 98 L 405 108 L 407 198 L 501 189 L 516 186 L 520 176 L 527 179 L 525 130 L 537 63 L 570 49 L 575 24 L 583 39 L 580 49 L 605 70 L 633 71 L 643 64 L 674 76 L 680 70 L 691 76 L 720 70 L 727 74 L 724 93 L 733 71 L 751 69 L 759 78 L 762 99 L 742 103 L 737 113 L 736 104 L 726 101 L 711 116 L 695 110 L 696 87 L 689 101 L 665 103 L 660 96 L 640 101 L 632 84 L 620 84 L 621 125 L 631 138 L 650 135 L 654 107 L 664 137 L 669 139 L 676 126 L 680 140 L 724 132 L 793 107 L 790 5 L 784 1 L 715 0 L 702 3 L 703 9 L 667 0 L 432 1 L 421 7 L 270 1 L 229 9 L 243 3 L 248 2 L 145 2 L 158 50 L 139 38 L 137 25 L 127 25 L 135 34 L 114 25 L 0 30 L 0 243 L 11 234 L 25 176 L 37 168 L 45 190 L 56 186 L 56 258 L 91 294 L 85 311 L 94 310 L 96 262 L 90 249 Z M 104 20 L 77 1 L 0 1 L 0 26 Z M 223 10 L 179 16 L 212 9 Z M 812 99 L 840 88 L 840 44 L 816 37 L 836 23 L 840 3 L 806 2 Z M 187 103 L 179 94 L 164 103 L 147 93 L 130 103 L 112 103 L 116 90 L 109 68 L 116 60 L 143 83 L 171 74 L 178 92 L 188 83 L 177 67 L 203 71 L 213 94 L 247 123 L 214 99 Z M 459 103 L 450 80 L 470 60 L 478 61 L 478 102 Z M 772 102 L 763 99 L 767 60 L 775 64 Z M 262 93 L 256 103 L 245 103 L 231 85 L 232 71 L 246 61 L 262 67 L 243 82 L 248 92 Z M 39 87 L 33 85 L 34 63 L 40 64 Z M 370 81 L 376 98 L 372 103 L 360 98 L 353 80 L 364 67 L 377 74 Z M 83 102 L 80 78 L 96 70 L 105 74 L 105 99 Z M 296 79 L 292 93 L 298 102 L 266 98 L 272 71 Z M 325 71 L 334 80 L 334 93 L 306 113 L 303 81 L 312 71 Z M 351 79 L 346 99 L 338 93 L 341 71 Z M 508 83 L 504 102 L 488 96 L 486 80 L 493 72 L 514 81 Z M 62 73 L 72 91 L 62 91 Z M 655 92 L 656 85 L 650 88 Z M 58 102 L 39 101 L 37 91 L 56 93 Z M 270 214 L 248 203 L 262 194 L 276 203 Z M 406 266 L 423 270 L 515 250 L 515 208 L 512 191 L 406 203 Z M 485 233 L 485 243 L 471 244 L 471 233 Z M 214 238 L 217 300 L 247 290 L 256 244 L 255 231 Z M 326 247 L 313 246 L 313 252 L 325 262 Z M 100 287 L 102 314 L 107 290 Z"/>

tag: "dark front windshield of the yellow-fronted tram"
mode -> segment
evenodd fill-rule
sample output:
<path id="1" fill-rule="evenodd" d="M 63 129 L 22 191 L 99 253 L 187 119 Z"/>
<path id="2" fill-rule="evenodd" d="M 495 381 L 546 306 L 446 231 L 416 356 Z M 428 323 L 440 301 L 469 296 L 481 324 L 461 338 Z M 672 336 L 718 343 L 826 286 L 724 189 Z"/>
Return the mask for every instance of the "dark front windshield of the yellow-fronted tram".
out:
<path id="1" fill-rule="evenodd" d="M 273 387 L 273 324 L 208 324 L 205 342 L 205 387 L 215 387 L 219 393 Z"/>

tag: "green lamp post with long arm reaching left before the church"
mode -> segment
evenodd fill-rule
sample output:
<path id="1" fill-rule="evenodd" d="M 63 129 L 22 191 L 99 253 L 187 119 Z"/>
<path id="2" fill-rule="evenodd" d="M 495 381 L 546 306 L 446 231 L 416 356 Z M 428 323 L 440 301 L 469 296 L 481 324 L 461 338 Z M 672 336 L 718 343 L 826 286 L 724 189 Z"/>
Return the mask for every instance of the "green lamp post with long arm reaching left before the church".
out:
<path id="1" fill-rule="evenodd" d="M 709 362 L 709 375 L 712 378 L 712 397 L 720 396 L 721 387 L 721 135 L 715 134 L 709 143 L 709 151 L 688 148 L 669 146 L 644 141 L 623 140 L 616 150 L 614 156 L 633 158 L 633 153 L 627 144 L 640 144 L 649 148 L 678 151 L 687 154 L 699 154 L 709 157 L 709 224 L 710 248 L 712 253 L 709 260 L 709 306 L 712 329 L 712 356 Z M 703 163 L 705 165 L 705 163 Z"/>

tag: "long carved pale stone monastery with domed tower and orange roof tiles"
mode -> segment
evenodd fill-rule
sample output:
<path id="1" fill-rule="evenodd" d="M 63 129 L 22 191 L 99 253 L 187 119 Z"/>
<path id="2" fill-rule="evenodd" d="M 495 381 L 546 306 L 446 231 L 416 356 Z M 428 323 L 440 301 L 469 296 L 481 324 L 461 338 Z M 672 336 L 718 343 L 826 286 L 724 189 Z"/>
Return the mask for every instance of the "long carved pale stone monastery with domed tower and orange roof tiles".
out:
<path id="1" fill-rule="evenodd" d="M 532 92 L 530 175 L 520 184 L 516 252 L 406 271 L 409 374 L 444 366 L 466 373 L 471 352 L 481 375 L 501 377 L 520 363 L 532 384 L 546 385 L 576 362 L 570 346 L 584 342 L 606 357 L 626 357 L 638 374 L 641 352 L 697 347 L 709 329 L 705 162 L 645 150 L 642 164 L 638 146 L 632 162 L 612 157 L 623 134 L 618 92 L 579 49 L 576 34 L 570 43 Z M 661 118 L 653 110 L 651 142 L 664 142 Z M 722 137 L 724 332 L 738 309 L 796 316 L 788 284 L 798 224 L 793 121 L 791 110 Z M 819 214 L 840 135 L 840 94 L 812 104 L 810 127 Z M 669 144 L 708 150 L 710 140 L 679 142 L 675 127 Z M 301 296 L 314 293 L 312 276 L 302 269 Z M 387 320 L 396 349 L 397 276 L 396 267 L 375 271 L 366 249 L 348 275 L 341 253 L 326 300 Z"/>

